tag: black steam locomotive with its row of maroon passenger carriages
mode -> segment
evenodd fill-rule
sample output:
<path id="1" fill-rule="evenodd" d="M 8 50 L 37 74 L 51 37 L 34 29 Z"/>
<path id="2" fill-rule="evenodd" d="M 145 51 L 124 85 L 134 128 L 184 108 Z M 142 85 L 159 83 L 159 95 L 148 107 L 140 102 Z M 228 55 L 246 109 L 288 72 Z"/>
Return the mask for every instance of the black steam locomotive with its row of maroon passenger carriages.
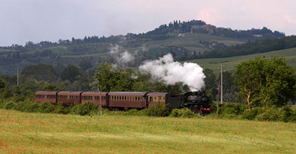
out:
<path id="1" fill-rule="evenodd" d="M 194 113 L 205 115 L 213 109 L 211 100 L 204 93 L 194 91 L 182 94 L 155 92 L 82 92 L 82 91 L 36 91 L 36 102 L 74 103 L 94 102 L 111 110 L 145 109 L 152 104 L 167 104 L 169 109 L 187 107 Z"/>

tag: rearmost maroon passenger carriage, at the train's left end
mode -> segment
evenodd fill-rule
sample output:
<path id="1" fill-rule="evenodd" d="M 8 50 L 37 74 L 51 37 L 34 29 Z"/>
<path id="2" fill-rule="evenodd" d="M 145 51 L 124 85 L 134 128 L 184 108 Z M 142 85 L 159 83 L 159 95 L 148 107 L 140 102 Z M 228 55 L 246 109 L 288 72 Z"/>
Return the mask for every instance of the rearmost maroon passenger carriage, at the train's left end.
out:
<path id="1" fill-rule="evenodd" d="M 37 91 L 36 102 L 51 102 L 56 104 L 59 91 Z"/>

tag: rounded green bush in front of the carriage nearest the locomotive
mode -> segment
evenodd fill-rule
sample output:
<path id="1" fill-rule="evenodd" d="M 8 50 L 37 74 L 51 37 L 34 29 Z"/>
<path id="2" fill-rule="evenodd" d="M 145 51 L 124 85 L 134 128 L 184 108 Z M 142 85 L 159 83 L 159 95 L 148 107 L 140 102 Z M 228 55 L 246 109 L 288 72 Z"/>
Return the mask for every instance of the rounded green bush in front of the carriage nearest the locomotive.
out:
<path id="1" fill-rule="evenodd" d="M 147 109 L 147 115 L 165 117 L 169 115 L 169 109 L 165 104 L 153 104 Z"/>

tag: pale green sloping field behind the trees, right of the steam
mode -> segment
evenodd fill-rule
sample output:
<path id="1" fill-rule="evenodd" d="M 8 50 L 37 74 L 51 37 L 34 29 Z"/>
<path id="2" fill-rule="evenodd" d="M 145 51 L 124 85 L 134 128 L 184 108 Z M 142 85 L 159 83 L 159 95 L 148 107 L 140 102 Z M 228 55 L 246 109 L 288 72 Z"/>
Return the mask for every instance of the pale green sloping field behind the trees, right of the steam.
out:
<path id="1" fill-rule="evenodd" d="M 188 61 L 192 63 L 198 63 L 203 68 L 213 69 L 217 75 L 220 72 L 221 63 L 223 63 L 224 70 L 232 72 L 235 66 L 240 64 L 242 61 L 249 61 L 257 56 L 266 56 L 266 58 L 271 58 L 271 56 L 283 56 L 288 61 L 288 65 L 296 67 L 296 48 L 291 48 L 288 50 L 278 50 L 274 52 L 266 52 L 262 54 L 251 54 L 246 56 L 233 56 L 229 58 L 207 58 L 207 59 L 197 59 L 193 61 Z"/>

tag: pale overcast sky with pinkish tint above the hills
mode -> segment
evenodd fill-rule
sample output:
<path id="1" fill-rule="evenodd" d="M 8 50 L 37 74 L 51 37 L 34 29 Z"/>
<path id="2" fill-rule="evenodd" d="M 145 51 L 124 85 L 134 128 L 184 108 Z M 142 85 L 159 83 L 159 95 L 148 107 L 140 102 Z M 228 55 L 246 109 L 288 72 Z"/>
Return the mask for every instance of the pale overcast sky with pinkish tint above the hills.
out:
<path id="1" fill-rule="evenodd" d="M 154 30 L 173 20 L 296 34 L 294 0 L 0 0 L 0 45 Z"/>

